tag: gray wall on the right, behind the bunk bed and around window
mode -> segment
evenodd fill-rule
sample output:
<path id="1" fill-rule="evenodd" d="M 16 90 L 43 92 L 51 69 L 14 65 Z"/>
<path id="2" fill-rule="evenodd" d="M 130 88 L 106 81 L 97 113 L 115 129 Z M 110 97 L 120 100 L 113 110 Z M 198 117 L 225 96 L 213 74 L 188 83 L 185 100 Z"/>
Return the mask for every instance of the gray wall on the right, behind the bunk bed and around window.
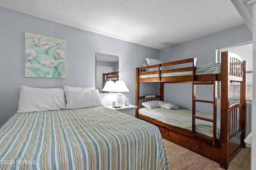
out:
<path id="1" fill-rule="evenodd" d="M 159 58 L 163 62 L 176 61 L 197 57 L 196 65 L 215 63 L 215 50 L 218 47 L 226 47 L 252 41 L 252 33 L 244 24 L 231 29 L 226 29 L 198 39 L 187 41 L 165 49 L 161 49 Z M 213 86 L 200 85 L 196 88 L 196 98 L 212 100 Z M 185 109 L 192 109 L 192 84 L 165 84 L 164 100 L 173 102 Z M 197 104 L 196 111 L 212 113 L 212 104 Z M 220 111 L 220 104 L 218 104 Z M 247 107 L 247 134 L 251 131 L 251 105 Z"/>

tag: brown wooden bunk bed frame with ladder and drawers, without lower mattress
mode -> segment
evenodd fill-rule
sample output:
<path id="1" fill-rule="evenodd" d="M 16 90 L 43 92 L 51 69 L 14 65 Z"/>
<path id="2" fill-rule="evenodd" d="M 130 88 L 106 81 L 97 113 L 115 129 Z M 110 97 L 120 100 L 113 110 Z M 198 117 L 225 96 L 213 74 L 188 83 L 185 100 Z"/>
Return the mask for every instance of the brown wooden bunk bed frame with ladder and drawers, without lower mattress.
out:
<path id="1" fill-rule="evenodd" d="M 161 69 L 176 64 L 190 64 L 183 68 Z M 145 71 L 145 69 L 158 68 L 157 71 Z M 153 66 L 136 68 L 136 117 L 157 125 L 162 137 L 182 147 L 192 150 L 202 156 L 210 158 L 220 167 L 228 169 L 229 162 L 246 145 L 246 61 L 242 61 L 237 55 L 228 51 L 221 54 L 221 68 L 219 73 L 197 74 L 196 58 L 174 61 Z M 165 76 L 189 72 L 183 76 Z M 217 115 L 217 81 L 221 81 L 221 106 L 220 106 L 220 137 L 216 137 Z M 141 82 L 159 82 L 159 95 L 140 96 Z M 164 83 L 186 82 L 192 84 L 192 129 L 183 129 L 174 125 L 163 123 L 156 119 L 139 113 L 142 102 L 164 99 Z M 230 82 L 240 82 L 240 103 L 230 106 L 229 87 Z M 196 85 L 212 84 L 213 101 L 196 98 Z M 196 102 L 213 104 L 212 119 L 196 115 Z M 195 130 L 196 120 L 212 123 L 212 137 L 197 133 Z"/>

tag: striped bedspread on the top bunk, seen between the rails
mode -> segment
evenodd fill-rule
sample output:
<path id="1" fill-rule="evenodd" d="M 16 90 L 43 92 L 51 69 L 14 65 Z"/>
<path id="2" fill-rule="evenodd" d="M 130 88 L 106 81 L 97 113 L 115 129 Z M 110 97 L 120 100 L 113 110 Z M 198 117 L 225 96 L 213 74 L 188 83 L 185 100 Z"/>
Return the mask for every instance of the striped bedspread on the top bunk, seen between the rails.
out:
<path id="1" fill-rule="evenodd" d="M 221 72 L 221 64 L 214 63 L 214 64 L 204 64 L 201 66 L 196 66 L 196 75 L 202 74 L 218 74 Z M 190 76 L 192 75 L 192 71 L 183 71 L 183 72 L 169 72 L 169 73 L 162 73 L 161 77 L 171 77 L 171 76 Z M 141 75 L 140 78 L 156 78 L 158 74 L 146 74 Z"/>

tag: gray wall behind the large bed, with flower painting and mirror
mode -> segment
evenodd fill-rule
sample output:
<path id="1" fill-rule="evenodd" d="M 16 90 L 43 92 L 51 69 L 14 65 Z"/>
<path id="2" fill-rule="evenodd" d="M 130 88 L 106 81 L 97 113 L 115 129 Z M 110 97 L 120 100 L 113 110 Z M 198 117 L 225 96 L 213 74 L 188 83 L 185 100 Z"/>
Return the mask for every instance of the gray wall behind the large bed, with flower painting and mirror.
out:
<path id="1" fill-rule="evenodd" d="M 18 107 L 20 86 L 95 87 L 96 53 L 119 56 L 120 79 L 130 92 L 125 99 L 135 104 L 135 68 L 145 58 L 159 58 L 159 50 L 43 20 L 0 7 L 0 127 Z M 66 40 L 66 79 L 24 77 L 24 32 Z M 146 88 L 145 88 L 146 90 Z M 148 90 L 146 90 L 148 91 Z M 106 98 L 102 95 L 102 98 Z M 108 98 L 107 98 L 108 99 Z M 112 101 L 103 103 L 111 105 Z"/>

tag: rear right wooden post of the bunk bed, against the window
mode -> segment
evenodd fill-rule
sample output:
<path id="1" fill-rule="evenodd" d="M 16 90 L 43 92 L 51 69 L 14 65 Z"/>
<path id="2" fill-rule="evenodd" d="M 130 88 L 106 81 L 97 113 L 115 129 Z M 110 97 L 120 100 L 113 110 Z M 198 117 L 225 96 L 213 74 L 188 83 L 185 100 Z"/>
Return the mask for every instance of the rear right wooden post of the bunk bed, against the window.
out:
<path id="1" fill-rule="evenodd" d="M 246 61 L 243 62 L 243 80 L 240 82 L 240 103 L 243 104 L 242 108 L 242 116 L 241 116 L 241 121 L 242 121 L 242 147 L 245 148 L 246 144 L 244 142 L 244 139 L 246 138 Z"/>

